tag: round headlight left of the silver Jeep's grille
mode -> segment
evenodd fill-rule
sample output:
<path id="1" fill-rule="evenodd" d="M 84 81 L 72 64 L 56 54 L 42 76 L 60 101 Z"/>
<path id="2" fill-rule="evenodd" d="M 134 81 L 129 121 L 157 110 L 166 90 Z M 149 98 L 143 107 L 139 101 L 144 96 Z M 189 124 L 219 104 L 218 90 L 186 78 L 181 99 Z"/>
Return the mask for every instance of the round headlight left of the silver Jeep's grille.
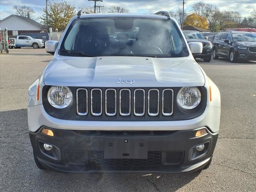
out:
<path id="1" fill-rule="evenodd" d="M 48 91 L 47 98 L 53 107 L 63 109 L 70 105 L 73 95 L 68 87 L 52 86 Z"/>

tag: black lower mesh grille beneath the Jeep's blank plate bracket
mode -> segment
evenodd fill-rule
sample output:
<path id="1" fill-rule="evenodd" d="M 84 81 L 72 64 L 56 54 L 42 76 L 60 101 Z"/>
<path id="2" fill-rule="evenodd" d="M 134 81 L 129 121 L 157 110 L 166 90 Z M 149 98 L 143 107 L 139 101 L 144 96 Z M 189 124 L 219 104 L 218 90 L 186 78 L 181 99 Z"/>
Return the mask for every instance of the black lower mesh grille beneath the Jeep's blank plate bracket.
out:
<path id="1" fill-rule="evenodd" d="M 72 165 L 88 166 L 161 166 L 177 165 L 183 160 L 182 151 L 148 151 L 147 159 L 104 159 L 104 151 L 66 151 L 66 160 Z"/>

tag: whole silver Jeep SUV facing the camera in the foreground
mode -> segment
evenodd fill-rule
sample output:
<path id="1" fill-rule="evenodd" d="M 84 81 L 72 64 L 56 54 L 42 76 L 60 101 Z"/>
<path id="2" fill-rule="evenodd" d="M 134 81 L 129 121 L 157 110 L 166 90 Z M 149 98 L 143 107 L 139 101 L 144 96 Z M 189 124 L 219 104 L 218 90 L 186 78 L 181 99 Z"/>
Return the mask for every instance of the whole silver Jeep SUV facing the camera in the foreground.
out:
<path id="1" fill-rule="evenodd" d="M 81 14 L 28 91 L 36 165 L 61 172 L 192 172 L 207 168 L 220 92 L 167 12 Z"/>

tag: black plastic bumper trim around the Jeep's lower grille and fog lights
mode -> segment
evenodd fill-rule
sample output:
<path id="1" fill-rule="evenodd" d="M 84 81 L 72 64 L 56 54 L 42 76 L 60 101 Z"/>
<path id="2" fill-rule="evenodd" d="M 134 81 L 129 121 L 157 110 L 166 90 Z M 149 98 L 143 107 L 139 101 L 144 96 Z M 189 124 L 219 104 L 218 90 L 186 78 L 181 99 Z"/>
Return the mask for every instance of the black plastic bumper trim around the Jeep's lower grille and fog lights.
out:
<path id="1" fill-rule="evenodd" d="M 178 173 L 184 170 L 195 171 L 206 165 L 210 160 L 216 146 L 218 134 L 208 132 L 205 136 L 191 139 L 196 130 L 180 131 L 76 131 L 51 129 L 54 137 L 49 137 L 41 132 L 30 132 L 35 158 L 42 166 L 60 172 L 170 172 Z M 73 165 L 66 159 L 66 151 L 104 151 L 104 140 L 106 137 L 114 138 L 147 138 L 149 152 L 160 151 L 162 163 L 156 166 L 105 166 L 105 165 Z M 42 154 L 38 148 L 38 140 L 53 144 L 60 149 L 61 161 L 54 160 Z M 189 150 L 198 144 L 209 142 L 209 150 L 204 156 L 189 161 Z M 122 149 L 120 149 L 122 150 Z M 182 161 L 177 164 L 166 162 L 165 152 L 183 152 Z M 197 165 L 197 166 L 195 166 Z"/>

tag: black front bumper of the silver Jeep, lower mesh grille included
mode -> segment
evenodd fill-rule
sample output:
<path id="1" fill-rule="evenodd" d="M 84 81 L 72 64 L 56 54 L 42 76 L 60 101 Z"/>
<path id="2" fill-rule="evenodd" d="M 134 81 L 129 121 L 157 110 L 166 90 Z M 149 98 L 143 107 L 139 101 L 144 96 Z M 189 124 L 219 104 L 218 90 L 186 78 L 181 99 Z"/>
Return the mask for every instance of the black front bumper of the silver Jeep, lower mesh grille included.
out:
<path id="1" fill-rule="evenodd" d="M 208 163 L 218 138 L 218 132 L 213 134 L 208 129 L 208 134 L 196 138 L 198 129 L 85 131 L 48 128 L 54 132 L 52 137 L 43 134 L 42 128 L 37 132 L 30 132 L 35 158 L 45 168 L 58 172 L 193 172 Z M 107 158 L 112 150 L 109 149 L 110 140 L 116 141 L 111 147 L 123 145 L 124 140 L 130 143 L 143 142 L 144 145 L 141 146 L 140 143 L 140 146 L 118 150 L 113 148 L 115 155 L 140 150 L 135 155 L 137 158 L 129 158 L 127 155 L 123 158 Z M 53 149 L 44 150 L 44 143 L 53 145 Z M 195 151 L 198 144 L 205 144 L 202 152 Z M 146 158 L 138 158 L 144 153 L 147 154 Z M 196 157 L 199 158 L 195 159 Z"/>

